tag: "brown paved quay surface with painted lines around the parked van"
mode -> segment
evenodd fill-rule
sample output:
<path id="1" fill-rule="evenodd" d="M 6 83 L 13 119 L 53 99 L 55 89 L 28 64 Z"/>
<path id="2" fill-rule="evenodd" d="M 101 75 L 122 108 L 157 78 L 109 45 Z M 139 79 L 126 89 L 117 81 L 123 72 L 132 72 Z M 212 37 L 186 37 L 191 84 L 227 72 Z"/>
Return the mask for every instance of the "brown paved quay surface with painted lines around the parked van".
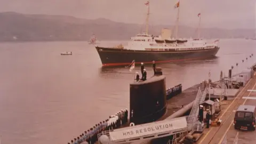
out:
<path id="1" fill-rule="evenodd" d="M 256 143 L 256 131 L 241 131 L 235 130 L 233 126 L 233 119 L 235 111 L 239 105 L 256 105 L 256 100 L 242 99 L 243 97 L 255 97 L 256 92 L 248 92 L 247 90 L 256 89 L 256 76 L 250 79 L 250 81 L 241 88 L 233 100 L 223 101 L 226 106 L 222 107 L 222 112 L 219 118 L 222 120 L 222 124 L 217 127 L 211 127 L 205 129 L 204 134 L 198 140 L 197 143 L 218 143 L 220 144 L 225 134 L 227 134 L 227 143 L 233 143 L 236 134 L 238 132 L 238 143 Z"/>

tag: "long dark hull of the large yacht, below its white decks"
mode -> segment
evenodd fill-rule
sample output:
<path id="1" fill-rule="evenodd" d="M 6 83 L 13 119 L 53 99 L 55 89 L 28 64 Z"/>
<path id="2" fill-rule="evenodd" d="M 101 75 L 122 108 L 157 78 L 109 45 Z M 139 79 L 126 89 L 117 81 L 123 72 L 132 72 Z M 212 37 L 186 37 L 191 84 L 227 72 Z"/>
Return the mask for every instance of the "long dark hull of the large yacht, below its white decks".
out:
<path id="1" fill-rule="evenodd" d="M 214 58 L 220 47 L 214 49 L 200 50 L 166 50 L 166 51 L 146 51 L 146 50 L 126 50 L 117 48 L 98 47 L 102 66 L 125 66 L 129 65 L 133 60 L 135 63 L 156 63 L 161 62 L 182 62 L 200 59 Z"/>

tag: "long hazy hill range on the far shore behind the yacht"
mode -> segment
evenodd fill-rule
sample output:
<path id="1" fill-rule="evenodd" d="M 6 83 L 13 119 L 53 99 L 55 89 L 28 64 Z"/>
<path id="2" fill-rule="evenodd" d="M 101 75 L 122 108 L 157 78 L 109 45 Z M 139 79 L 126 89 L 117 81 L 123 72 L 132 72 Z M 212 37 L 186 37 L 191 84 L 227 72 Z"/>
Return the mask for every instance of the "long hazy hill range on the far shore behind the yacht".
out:
<path id="1" fill-rule="evenodd" d="M 0 13 L 0 41 L 88 41 L 92 33 L 100 40 L 130 39 L 144 27 L 108 19 L 78 19 L 63 15 Z M 150 26 L 150 34 L 159 35 L 161 28 Z M 180 26 L 181 37 L 194 37 L 195 28 Z M 253 29 L 201 29 L 205 38 L 252 37 Z M 16 39 L 15 39 L 15 38 Z"/>

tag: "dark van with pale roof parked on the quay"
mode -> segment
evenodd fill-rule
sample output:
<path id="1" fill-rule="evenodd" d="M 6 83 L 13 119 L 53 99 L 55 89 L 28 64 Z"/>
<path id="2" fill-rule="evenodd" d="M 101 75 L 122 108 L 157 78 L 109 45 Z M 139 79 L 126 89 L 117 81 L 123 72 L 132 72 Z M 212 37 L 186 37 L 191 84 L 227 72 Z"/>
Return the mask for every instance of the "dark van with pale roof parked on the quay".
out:
<path id="1" fill-rule="evenodd" d="M 255 131 L 256 106 L 241 105 L 237 108 L 234 127 L 240 130 Z"/>

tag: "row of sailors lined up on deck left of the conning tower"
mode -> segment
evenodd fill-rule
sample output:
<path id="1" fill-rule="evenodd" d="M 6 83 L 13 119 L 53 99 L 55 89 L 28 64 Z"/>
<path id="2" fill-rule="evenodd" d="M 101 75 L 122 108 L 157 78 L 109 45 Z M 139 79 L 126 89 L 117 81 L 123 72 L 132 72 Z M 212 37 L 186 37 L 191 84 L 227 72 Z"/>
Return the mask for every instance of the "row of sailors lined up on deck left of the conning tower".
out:
<path id="1" fill-rule="evenodd" d="M 118 129 L 120 126 L 128 122 L 128 110 L 118 111 L 115 115 L 109 116 L 108 119 L 95 124 L 91 129 L 84 131 L 79 137 L 74 138 L 68 142 L 68 144 L 79 144 L 79 143 L 95 143 L 98 141 L 98 134 L 103 131 Z"/>

